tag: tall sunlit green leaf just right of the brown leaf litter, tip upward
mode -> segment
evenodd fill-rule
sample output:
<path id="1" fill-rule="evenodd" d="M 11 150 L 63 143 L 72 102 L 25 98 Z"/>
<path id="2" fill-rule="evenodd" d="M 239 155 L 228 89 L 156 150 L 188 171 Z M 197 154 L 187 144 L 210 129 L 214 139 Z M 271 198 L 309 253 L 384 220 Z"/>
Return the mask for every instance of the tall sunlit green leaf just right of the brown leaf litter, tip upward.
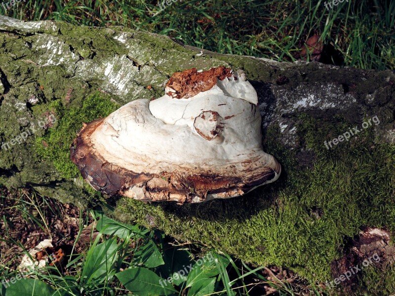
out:
<path id="1" fill-rule="evenodd" d="M 81 283 L 90 284 L 92 281 L 104 282 L 111 279 L 115 273 L 114 264 L 117 260 L 117 240 L 109 239 L 96 245 L 100 239 L 98 236 L 86 254 L 85 263 L 82 267 Z"/>

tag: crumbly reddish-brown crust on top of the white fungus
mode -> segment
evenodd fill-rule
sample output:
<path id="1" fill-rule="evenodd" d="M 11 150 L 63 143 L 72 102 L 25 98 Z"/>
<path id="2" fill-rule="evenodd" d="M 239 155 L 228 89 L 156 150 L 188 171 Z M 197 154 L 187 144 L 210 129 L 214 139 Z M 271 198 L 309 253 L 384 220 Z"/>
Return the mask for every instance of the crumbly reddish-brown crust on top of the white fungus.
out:
<path id="1" fill-rule="evenodd" d="M 199 92 L 211 89 L 217 79 L 224 80 L 232 76 L 232 70 L 224 66 L 211 68 L 210 70 L 197 72 L 196 68 L 183 72 L 175 72 L 166 83 L 166 87 L 174 90 L 166 94 L 176 99 L 191 98 Z"/>

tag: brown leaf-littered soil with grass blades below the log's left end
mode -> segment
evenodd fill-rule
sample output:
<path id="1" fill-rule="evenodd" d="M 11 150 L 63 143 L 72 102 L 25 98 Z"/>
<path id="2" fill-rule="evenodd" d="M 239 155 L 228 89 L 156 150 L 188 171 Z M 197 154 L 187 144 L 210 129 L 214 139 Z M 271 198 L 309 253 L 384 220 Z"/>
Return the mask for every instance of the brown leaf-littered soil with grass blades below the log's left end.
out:
<path id="1" fill-rule="evenodd" d="M 0 264 L 17 269 L 24 249 L 29 251 L 44 239 L 52 239 L 57 252 L 68 258 L 79 228 L 83 228 L 73 254 L 83 253 L 90 242 L 92 220 L 72 204 L 32 194 L 32 190 L 7 190 L 0 187 Z M 89 225 L 79 225 L 80 222 Z M 93 236 L 97 234 L 93 231 Z M 61 251 L 59 251 L 61 250 Z M 64 265 L 67 259 L 62 262 Z"/>

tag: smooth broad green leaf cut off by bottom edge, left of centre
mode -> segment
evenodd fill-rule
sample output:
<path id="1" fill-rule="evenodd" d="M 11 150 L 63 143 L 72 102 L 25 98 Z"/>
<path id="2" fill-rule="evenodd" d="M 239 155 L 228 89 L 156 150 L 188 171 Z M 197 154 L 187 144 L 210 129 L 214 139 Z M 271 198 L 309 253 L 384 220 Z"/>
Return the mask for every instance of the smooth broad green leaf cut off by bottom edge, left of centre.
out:
<path id="1" fill-rule="evenodd" d="M 143 267 L 129 268 L 115 276 L 127 290 L 136 295 L 171 295 L 178 293 L 171 283 Z"/>

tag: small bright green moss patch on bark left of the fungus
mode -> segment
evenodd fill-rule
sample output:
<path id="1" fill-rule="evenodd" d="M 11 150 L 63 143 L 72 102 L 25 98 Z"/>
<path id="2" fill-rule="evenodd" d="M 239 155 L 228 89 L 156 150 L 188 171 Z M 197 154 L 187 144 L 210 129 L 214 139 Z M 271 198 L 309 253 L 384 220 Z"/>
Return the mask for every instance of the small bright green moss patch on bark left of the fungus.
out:
<path id="1" fill-rule="evenodd" d="M 36 150 L 50 160 L 63 177 L 77 177 L 79 171 L 70 160 L 70 146 L 82 128 L 82 123 L 109 115 L 116 110 L 117 105 L 111 102 L 109 96 L 95 93 L 70 106 L 56 100 L 48 107 L 60 119 L 44 136 L 36 138 Z"/>

